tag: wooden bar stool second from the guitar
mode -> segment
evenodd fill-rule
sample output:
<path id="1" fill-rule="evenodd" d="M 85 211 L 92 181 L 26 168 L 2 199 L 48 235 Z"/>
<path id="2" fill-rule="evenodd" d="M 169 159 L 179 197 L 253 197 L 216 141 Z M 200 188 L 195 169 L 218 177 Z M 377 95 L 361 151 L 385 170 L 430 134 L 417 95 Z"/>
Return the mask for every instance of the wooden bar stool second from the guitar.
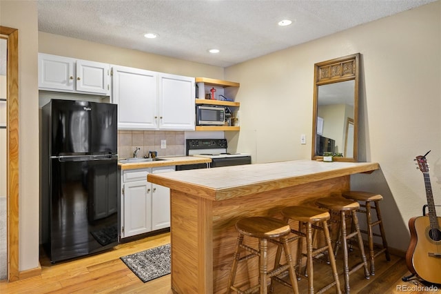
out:
<path id="1" fill-rule="evenodd" d="M 338 221 L 338 239 L 336 241 L 336 248 L 334 248 L 334 253 L 336 254 L 338 251 L 338 246 L 340 244 L 340 237 L 342 239 L 342 247 L 343 247 L 343 277 L 345 278 L 345 292 L 349 294 L 349 275 L 354 273 L 359 268 L 365 268 L 365 277 L 369 279 L 369 269 L 367 268 L 367 260 L 365 255 L 365 248 L 363 247 L 363 239 L 360 233 L 360 226 L 358 225 L 357 218 L 357 210 L 360 208 L 360 204 L 356 201 L 352 201 L 350 199 L 346 199 L 343 197 L 324 197 L 320 198 L 316 201 L 316 204 L 320 208 L 327 208 L 329 212 L 332 214 L 333 212 L 337 212 L 340 214 L 340 219 Z M 347 233 L 346 226 L 346 215 L 349 215 L 352 219 L 354 231 L 351 233 Z M 360 259 L 361 262 L 353 266 L 349 271 L 349 255 L 347 248 L 347 240 L 352 237 L 357 237 L 358 246 L 360 248 Z"/>

